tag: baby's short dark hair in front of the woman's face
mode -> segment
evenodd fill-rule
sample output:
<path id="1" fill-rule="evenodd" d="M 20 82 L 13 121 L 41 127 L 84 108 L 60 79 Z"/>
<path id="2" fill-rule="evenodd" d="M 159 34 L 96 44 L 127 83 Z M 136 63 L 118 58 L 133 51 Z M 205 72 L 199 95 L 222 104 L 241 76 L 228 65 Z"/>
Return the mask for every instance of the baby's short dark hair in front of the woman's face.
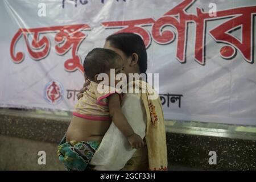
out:
<path id="1" fill-rule="evenodd" d="M 95 75 L 105 73 L 119 59 L 122 57 L 110 49 L 94 48 L 84 59 L 85 76 L 94 80 Z"/>

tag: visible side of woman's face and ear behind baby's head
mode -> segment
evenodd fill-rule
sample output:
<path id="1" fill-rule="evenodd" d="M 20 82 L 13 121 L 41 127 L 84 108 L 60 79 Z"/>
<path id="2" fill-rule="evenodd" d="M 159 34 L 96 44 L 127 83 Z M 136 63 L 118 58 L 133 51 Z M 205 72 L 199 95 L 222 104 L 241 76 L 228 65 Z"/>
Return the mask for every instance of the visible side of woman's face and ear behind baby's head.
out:
<path id="1" fill-rule="evenodd" d="M 123 71 L 125 71 L 126 74 L 134 73 L 134 69 L 132 67 L 130 67 L 131 57 L 127 57 L 123 51 L 111 46 L 109 41 L 106 41 L 106 43 L 104 45 L 104 48 L 115 51 L 116 53 L 118 53 L 118 55 L 120 55 L 122 57 L 122 59 L 123 59 Z"/>

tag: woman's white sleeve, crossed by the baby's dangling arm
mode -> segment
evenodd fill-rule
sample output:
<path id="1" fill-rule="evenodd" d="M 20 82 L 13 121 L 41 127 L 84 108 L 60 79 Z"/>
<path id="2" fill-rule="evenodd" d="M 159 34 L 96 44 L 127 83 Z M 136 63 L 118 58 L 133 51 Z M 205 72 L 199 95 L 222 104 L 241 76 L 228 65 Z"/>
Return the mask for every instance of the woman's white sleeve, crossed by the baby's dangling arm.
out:
<path id="1" fill-rule="evenodd" d="M 146 135 L 146 111 L 141 94 L 125 94 L 122 98 L 122 113 L 134 132 L 144 138 Z M 120 170 L 133 156 L 136 149 L 131 148 L 126 137 L 112 122 L 100 146 L 90 162 L 96 170 Z"/>

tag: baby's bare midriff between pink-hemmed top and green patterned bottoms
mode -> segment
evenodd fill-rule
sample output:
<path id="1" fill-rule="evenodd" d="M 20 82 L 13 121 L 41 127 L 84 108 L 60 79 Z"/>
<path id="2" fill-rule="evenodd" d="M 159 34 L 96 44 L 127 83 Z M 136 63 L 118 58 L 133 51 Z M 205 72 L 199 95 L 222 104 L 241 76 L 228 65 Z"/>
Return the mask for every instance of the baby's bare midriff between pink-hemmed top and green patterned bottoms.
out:
<path id="1" fill-rule="evenodd" d="M 111 121 L 93 121 L 73 115 L 67 131 L 67 141 L 101 141 Z"/>

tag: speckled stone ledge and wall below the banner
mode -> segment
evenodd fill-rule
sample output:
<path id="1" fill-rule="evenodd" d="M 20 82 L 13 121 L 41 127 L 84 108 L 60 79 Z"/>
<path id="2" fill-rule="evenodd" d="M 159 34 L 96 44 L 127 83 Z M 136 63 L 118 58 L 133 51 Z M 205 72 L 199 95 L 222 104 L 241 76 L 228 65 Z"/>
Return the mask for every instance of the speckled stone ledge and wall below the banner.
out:
<path id="1" fill-rule="evenodd" d="M 71 113 L 0 109 L 0 170 L 61 170 L 56 147 Z M 256 170 L 256 127 L 220 123 L 166 121 L 170 170 Z M 41 146 L 41 147 L 40 147 Z M 37 163 L 49 153 L 47 166 Z M 217 164 L 209 164 L 209 152 Z"/>

